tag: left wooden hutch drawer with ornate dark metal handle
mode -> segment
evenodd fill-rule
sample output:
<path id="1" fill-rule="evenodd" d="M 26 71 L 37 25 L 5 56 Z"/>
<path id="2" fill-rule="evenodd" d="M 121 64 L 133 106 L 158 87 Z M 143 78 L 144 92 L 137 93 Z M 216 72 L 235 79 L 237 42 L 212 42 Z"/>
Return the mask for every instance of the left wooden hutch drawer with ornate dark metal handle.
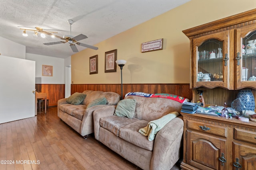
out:
<path id="1" fill-rule="evenodd" d="M 220 127 L 209 123 L 187 120 L 187 128 L 200 132 L 227 137 L 227 127 Z"/>

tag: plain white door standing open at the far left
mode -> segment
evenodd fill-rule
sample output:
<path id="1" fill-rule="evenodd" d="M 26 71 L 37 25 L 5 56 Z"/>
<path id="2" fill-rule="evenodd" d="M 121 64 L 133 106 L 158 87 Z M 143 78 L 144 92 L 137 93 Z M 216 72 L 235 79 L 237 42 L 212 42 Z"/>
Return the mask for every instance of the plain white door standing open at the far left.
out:
<path id="1" fill-rule="evenodd" d="M 0 55 L 0 123 L 35 116 L 36 62 Z"/>

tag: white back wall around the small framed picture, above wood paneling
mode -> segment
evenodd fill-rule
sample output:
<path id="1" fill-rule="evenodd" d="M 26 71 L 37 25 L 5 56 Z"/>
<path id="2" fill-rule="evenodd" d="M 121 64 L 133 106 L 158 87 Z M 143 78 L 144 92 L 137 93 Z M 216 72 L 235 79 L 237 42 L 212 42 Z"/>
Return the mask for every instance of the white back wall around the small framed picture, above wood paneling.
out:
<path id="1" fill-rule="evenodd" d="M 36 84 L 65 84 L 64 59 L 31 53 L 26 59 L 36 61 Z M 53 76 L 42 76 L 42 65 L 53 66 Z"/>

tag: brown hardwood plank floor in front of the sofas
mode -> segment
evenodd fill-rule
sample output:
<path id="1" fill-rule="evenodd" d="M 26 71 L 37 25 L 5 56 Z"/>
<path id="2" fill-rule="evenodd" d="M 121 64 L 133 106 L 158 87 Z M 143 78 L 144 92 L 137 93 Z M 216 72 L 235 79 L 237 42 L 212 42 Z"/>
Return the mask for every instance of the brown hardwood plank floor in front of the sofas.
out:
<path id="1" fill-rule="evenodd" d="M 140 170 L 94 136 L 83 139 L 61 121 L 57 107 L 0 124 L 0 170 Z"/>

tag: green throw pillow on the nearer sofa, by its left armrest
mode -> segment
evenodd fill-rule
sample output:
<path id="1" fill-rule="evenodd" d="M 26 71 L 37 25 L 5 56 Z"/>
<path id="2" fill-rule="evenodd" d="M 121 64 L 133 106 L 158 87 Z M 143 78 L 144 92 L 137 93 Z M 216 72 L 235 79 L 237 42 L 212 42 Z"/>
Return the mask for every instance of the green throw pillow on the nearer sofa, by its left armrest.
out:
<path id="1" fill-rule="evenodd" d="M 120 117 L 128 117 L 132 119 L 134 116 L 135 106 L 136 106 L 135 99 L 120 100 L 116 106 L 114 115 L 117 115 Z"/>

